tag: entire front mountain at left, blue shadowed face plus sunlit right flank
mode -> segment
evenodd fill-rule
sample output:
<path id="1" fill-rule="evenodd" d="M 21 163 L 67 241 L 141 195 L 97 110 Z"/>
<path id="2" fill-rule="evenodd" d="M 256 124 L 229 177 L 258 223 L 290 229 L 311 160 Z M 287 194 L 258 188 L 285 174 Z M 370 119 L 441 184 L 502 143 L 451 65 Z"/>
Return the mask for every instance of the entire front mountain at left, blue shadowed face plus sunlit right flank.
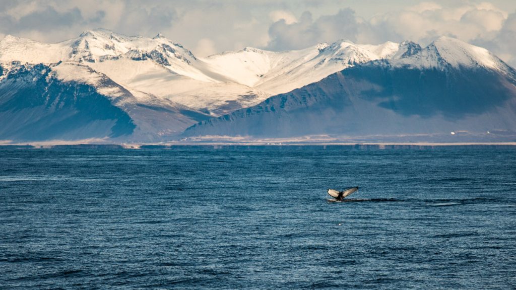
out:
<path id="1" fill-rule="evenodd" d="M 24 65 L 0 82 L 0 139 L 159 141 L 207 116 L 130 92 L 78 63 Z"/>

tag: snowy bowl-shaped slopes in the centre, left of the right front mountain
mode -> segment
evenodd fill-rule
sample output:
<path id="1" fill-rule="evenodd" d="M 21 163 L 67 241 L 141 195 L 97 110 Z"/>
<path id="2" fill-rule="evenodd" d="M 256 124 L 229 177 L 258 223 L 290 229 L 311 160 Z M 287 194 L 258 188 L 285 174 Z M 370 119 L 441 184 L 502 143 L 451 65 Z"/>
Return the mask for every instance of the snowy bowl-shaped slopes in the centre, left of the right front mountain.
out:
<path id="1" fill-rule="evenodd" d="M 298 51 L 270 52 L 246 48 L 205 59 L 220 74 L 269 94 L 291 91 L 345 68 L 392 57 L 399 44 L 355 44 L 340 40 Z"/>

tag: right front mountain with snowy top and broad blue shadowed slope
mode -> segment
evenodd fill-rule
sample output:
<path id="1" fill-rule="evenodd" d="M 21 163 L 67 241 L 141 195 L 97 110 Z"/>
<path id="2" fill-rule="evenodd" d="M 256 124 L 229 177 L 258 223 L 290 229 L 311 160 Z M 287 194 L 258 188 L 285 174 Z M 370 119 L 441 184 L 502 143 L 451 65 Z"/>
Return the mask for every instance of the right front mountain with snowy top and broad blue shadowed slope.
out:
<path id="1" fill-rule="evenodd" d="M 405 42 L 393 54 L 204 121 L 185 136 L 516 140 L 516 71 L 502 60 L 448 37 L 424 49 Z"/>

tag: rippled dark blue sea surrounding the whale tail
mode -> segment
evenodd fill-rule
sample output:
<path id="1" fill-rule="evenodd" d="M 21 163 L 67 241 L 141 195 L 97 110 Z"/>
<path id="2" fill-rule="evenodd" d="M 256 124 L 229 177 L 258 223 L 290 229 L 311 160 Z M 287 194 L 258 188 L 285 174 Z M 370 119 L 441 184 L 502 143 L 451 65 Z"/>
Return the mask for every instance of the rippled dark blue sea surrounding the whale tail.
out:
<path id="1" fill-rule="evenodd" d="M 2 289 L 515 287 L 516 149 L 0 151 Z"/>

